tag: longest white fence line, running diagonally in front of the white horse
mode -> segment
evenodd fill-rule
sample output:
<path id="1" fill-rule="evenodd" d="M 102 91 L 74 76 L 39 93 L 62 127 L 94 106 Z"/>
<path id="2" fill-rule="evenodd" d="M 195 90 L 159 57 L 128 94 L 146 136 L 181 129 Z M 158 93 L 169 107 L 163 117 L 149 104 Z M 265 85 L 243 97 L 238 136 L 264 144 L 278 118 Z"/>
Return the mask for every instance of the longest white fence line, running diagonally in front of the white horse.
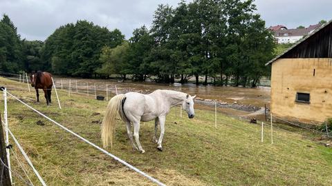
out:
<path id="1" fill-rule="evenodd" d="M 123 161 L 122 159 L 118 158 L 117 156 L 107 152 L 107 150 L 102 149 L 101 147 L 99 147 L 98 145 L 95 145 L 94 143 L 91 143 L 90 141 L 86 140 L 86 138 L 83 138 L 82 136 L 76 134 L 75 132 L 69 130 L 68 128 L 64 127 L 63 125 L 57 123 L 56 121 L 54 121 L 52 118 L 49 118 L 48 116 L 46 116 L 45 114 L 43 114 L 42 112 L 39 112 L 38 110 L 35 110 L 35 108 L 31 107 L 30 105 L 24 103 L 23 101 L 21 101 L 20 99 L 18 99 L 16 96 L 10 94 L 10 92 L 3 90 L 4 92 L 7 92 L 10 96 L 12 96 L 12 98 L 16 99 L 17 101 L 19 101 L 20 103 L 22 103 L 23 105 L 26 105 L 26 107 L 29 107 L 31 110 L 37 112 L 39 115 L 43 116 L 44 118 L 47 118 L 48 121 L 51 121 L 53 123 L 55 123 L 55 125 L 58 125 L 59 127 L 61 127 L 63 130 L 66 130 L 67 132 L 73 134 L 74 136 L 76 136 L 77 138 L 80 138 L 82 141 L 84 141 L 85 143 L 88 143 L 89 145 L 95 147 L 96 149 L 100 150 L 101 152 L 103 152 L 104 154 L 107 154 L 108 156 L 111 156 L 111 158 L 113 158 L 114 160 L 122 163 L 122 165 L 125 165 L 127 167 L 129 167 L 129 169 L 132 169 L 133 171 L 137 172 L 138 174 L 141 174 L 142 176 L 145 176 L 146 178 L 148 178 L 149 180 L 151 180 L 153 183 L 156 183 L 158 185 L 165 185 L 164 183 L 161 183 L 159 180 L 156 180 L 156 178 L 153 178 L 151 176 L 149 176 L 148 174 L 146 174 L 145 172 L 142 172 L 140 169 L 133 167 L 133 165 L 130 165 L 129 163 L 127 163 L 126 161 Z"/>

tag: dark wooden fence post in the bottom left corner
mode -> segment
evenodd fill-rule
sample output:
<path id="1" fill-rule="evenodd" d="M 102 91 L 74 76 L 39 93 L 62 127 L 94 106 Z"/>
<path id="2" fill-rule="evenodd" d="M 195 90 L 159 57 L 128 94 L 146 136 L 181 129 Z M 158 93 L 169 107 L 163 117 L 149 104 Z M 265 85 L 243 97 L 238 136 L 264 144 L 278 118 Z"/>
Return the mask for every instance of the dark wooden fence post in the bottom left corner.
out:
<path id="1" fill-rule="evenodd" d="M 1 122 L 1 127 L 0 127 L 0 158 L 3 163 L 8 167 L 8 161 L 7 161 L 7 154 L 6 154 L 6 145 L 5 145 L 5 138 L 3 136 L 3 125 L 2 125 L 2 120 L 1 120 L 1 114 L 0 114 L 0 122 Z M 1 176 L 1 181 L 0 185 L 12 185 L 10 181 L 10 176 L 9 176 L 9 169 L 5 167 L 2 163 L 0 163 L 0 176 Z"/>

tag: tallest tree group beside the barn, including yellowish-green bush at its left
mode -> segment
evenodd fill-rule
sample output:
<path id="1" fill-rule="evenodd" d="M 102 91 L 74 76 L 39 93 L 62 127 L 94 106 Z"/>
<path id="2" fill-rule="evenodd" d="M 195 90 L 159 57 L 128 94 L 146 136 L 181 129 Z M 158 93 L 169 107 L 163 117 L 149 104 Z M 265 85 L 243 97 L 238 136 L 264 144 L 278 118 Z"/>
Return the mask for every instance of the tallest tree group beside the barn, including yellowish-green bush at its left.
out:
<path id="1" fill-rule="evenodd" d="M 151 29 L 133 31 L 129 43 L 104 48 L 99 72 L 134 74 L 145 81 L 185 83 L 190 76 L 208 77 L 222 85 L 257 85 L 270 70 L 275 43 L 265 22 L 255 13 L 253 1 L 181 1 L 178 7 L 160 5 Z"/>

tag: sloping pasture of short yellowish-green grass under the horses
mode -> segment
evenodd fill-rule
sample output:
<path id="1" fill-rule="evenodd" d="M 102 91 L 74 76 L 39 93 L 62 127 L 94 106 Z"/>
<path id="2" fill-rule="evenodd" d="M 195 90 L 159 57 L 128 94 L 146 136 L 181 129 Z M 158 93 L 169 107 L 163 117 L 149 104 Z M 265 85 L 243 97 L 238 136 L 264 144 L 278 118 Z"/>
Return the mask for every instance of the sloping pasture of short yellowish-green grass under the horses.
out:
<path id="1" fill-rule="evenodd" d="M 68 92 L 59 91 L 62 103 L 59 110 L 54 91 L 53 102 L 46 107 L 44 95 L 36 103 L 35 92 L 29 93 L 26 84 L 0 78 L 0 85 L 101 145 L 100 123 L 106 101 L 75 93 L 68 97 Z M 0 101 L 3 112 L 2 92 Z M 133 152 L 121 121 L 117 125 L 115 147 L 109 151 L 167 185 L 332 185 L 332 150 L 312 141 L 317 137 L 314 134 L 296 128 L 291 130 L 298 134 L 275 129 L 271 145 L 269 126 L 264 128 L 266 133 L 261 143 L 259 125 L 219 114 L 215 128 L 214 112 L 196 110 L 195 118 L 190 120 L 185 114 L 180 118 L 178 109 L 175 107 L 167 116 L 164 152 L 158 152 L 151 141 L 152 122 L 141 125 L 140 141 L 145 154 Z M 8 97 L 8 116 L 10 129 L 48 185 L 154 185 L 11 97 Z M 15 157 L 11 158 L 12 168 L 24 175 Z M 28 169 L 23 157 L 19 159 Z M 38 185 L 37 177 L 28 170 Z M 23 185 L 15 175 L 14 181 Z"/>

